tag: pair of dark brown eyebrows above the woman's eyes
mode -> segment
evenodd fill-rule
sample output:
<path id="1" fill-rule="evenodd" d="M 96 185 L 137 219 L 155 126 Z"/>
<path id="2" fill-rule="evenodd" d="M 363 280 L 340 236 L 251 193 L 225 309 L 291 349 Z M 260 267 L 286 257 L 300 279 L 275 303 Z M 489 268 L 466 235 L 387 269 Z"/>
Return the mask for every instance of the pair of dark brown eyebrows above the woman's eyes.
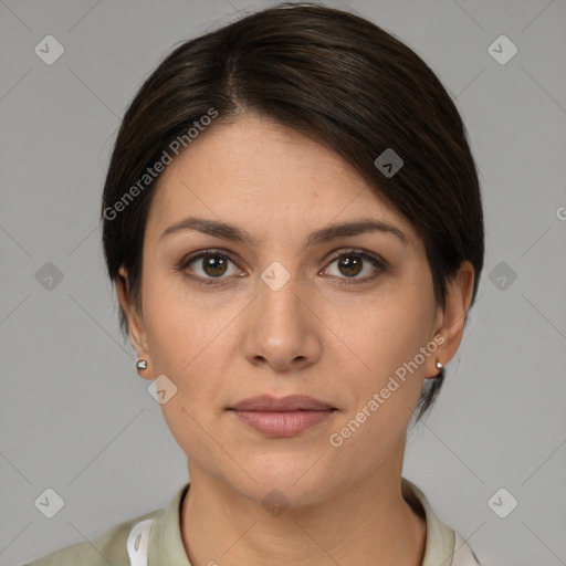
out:
<path id="1" fill-rule="evenodd" d="M 238 228 L 227 222 L 217 220 L 207 220 L 203 218 L 188 217 L 179 222 L 167 228 L 159 240 L 165 237 L 177 233 L 185 230 L 195 230 L 205 234 L 221 238 L 223 240 L 231 240 L 234 242 L 241 242 L 249 247 L 255 247 L 256 240 L 252 238 L 245 230 Z M 405 245 L 409 242 L 409 239 L 402 230 L 394 226 L 387 224 L 380 220 L 364 218 L 352 222 L 343 222 L 339 224 L 329 224 L 326 228 L 313 232 L 306 242 L 306 245 L 315 245 L 318 243 L 334 240 L 335 238 L 344 238 L 348 235 L 358 235 L 366 232 L 380 232 L 391 234 L 398 238 Z"/>

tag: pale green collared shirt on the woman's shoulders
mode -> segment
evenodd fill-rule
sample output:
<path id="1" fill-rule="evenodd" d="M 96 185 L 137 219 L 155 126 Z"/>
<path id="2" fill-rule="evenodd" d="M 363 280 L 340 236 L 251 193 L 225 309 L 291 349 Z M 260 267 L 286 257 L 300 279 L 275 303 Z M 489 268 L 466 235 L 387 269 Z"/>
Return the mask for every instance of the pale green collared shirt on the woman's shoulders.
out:
<path id="1" fill-rule="evenodd" d="M 163 510 L 119 523 L 92 541 L 65 546 L 25 566 L 191 566 L 180 531 L 186 483 Z M 436 515 L 417 485 L 401 478 L 405 500 L 426 518 L 422 566 L 478 566 L 470 546 Z M 209 564 L 214 565 L 211 560 Z"/>

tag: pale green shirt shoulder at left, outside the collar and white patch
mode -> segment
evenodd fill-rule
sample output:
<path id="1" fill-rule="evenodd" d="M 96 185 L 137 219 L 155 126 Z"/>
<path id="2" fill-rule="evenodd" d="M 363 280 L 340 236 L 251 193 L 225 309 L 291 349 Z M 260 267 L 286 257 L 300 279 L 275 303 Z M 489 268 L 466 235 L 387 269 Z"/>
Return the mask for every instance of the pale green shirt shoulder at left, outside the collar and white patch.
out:
<path id="1" fill-rule="evenodd" d="M 145 520 L 157 520 L 164 510 L 124 521 L 104 531 L 91 541 L 75 543 L 60 548 L 24 566 L 115 566 L 129 565 L 128 537 L 134 527 Z"/>

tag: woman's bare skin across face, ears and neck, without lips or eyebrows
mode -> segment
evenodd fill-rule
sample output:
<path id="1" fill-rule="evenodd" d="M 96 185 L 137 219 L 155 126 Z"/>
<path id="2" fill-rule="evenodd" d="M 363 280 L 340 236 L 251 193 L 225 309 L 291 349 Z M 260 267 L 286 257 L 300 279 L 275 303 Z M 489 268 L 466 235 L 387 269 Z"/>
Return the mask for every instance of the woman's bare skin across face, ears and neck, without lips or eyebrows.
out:
<path id="1" fill-rule="evenodd" d="M 161 238 L 188 216 L 230 222 L 255 241 L 195 230 Z M 312 232 L 361 218 L 401 230 L 406 242 L 377 231 L 306 247 Z M 340 259 L 360 261 L 352 248 L 388 266 L 340 268 Z M 231 261 L 178 268 L 210 249 Z M 291 275 L 279 291 L 261 277 L 275 261 Z M 219 284 L 202 283 L 210 280 Z M 177 387 L 161 408 L 188 457 L 181 532 L 191 563 L 420 565 L 426 524 L 400 492 L 407 426 L 436 361 L 446 365 L 460 344 L 472 286 L 463 262 L 440 308 L 412 224 L 321 144 L 254 115 L 200 134 L 159 180 L 143 306 L 118 284 L 130 338 L 148 361 L 143 377 L 166 375 Z M 329 436 L 439 335 L 418 370 L 332 446 Z M 261 394 L 310 395 L 338 410 L 296 436 L 268 438 L 227 410 Z M 277 516 L 262 505 L 274 489 L 287 505 Z"/>

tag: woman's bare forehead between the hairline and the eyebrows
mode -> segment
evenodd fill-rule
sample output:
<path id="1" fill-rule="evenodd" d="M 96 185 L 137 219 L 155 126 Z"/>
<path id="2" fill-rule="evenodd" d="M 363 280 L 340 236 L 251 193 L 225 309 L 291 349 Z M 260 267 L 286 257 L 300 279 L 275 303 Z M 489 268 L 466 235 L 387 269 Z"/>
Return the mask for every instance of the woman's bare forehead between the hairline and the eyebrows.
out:
<path id="1" fill-rule="evenodd" d="M 259 117 L 210 127 L 161 174 L 148 231 L 160 235 L 187 216 L 272 235 L 371 217 L 416 238 L 412 226 L 335 151 Z"/>

